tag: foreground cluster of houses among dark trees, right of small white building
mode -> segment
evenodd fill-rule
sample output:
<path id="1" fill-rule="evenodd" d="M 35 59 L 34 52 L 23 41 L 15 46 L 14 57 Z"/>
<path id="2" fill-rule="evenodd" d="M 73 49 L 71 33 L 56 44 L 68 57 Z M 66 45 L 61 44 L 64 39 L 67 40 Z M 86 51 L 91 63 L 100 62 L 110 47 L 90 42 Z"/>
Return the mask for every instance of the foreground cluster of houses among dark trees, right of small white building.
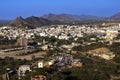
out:
<path id="1" fill-rule="evenodd" d="M 82 62 L 80 59 L 75 59 L 72 55 L 66 53 L 49 60 L 48 66 L 51 65 L 56 65 L 56 68 L 61 70 L 64 68 L 82 67 Z"/>

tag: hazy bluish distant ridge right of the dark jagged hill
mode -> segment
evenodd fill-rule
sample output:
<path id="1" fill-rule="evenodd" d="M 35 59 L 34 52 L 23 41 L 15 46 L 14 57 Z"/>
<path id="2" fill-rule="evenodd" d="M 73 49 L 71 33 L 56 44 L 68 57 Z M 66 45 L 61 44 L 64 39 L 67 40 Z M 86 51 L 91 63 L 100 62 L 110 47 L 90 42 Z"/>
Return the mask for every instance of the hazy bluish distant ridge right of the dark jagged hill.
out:
<path id="1" fill-rule="evenodd" d="M 51 21 L 74 21 L 74 20 L 102 20 L 104 18 L 91 15 L 72 15 L 72 14 L 48 14 L 42 16 Z"/>

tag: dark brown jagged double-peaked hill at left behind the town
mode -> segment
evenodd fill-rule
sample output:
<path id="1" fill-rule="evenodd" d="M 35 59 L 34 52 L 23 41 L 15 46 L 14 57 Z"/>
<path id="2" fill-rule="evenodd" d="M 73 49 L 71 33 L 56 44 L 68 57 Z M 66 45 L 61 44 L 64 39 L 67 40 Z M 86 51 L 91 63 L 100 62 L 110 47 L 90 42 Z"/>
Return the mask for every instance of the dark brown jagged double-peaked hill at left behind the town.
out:
<path id="1" fill-rule="evenodd" d="M 17 27 L 25 27 L 28 26 L 30 28 L 34 27 L 40 27 L 43 25 L 50 25 L 51 21 L 44 19 L 42 17 L 27 17 L 22 18 L 21 16 L 17 17 L 15 20 L 11 21 L 8 25 L 10 26 L 17 26 Z"/>

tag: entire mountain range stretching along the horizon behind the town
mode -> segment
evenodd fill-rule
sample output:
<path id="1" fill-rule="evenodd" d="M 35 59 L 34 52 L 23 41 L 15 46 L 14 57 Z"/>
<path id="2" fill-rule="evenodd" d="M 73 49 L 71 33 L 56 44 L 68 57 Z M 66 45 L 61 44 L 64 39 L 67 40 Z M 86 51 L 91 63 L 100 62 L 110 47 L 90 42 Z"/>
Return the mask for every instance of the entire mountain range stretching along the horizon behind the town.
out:
<path id="1" fill-rule="evenodd" d="M 15 20 L 9 21 L 8 25 L 30 28 L 41 27 L 51 24 L 79 24 L 81 22 L 95 22 L 95 21 L 120 21 L 120 12 L 110 17 L 97 17 L 91 15 L 72 15 L 72 14 L 47 14 L 41 17 L 17 17 Z M 0 21 L 1 22 L 1 21 Z"/>

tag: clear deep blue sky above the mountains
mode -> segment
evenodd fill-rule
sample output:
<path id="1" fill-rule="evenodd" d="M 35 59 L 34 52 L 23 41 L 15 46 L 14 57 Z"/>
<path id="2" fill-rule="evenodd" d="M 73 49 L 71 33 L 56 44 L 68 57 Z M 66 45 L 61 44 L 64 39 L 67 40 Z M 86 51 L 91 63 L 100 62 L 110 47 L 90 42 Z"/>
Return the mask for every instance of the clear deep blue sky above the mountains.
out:
<path id="1" fill-rule="evenodd" d="M 0 20 L 49 13 L 108 17 L 120 12 L 120 0 L 0 0 Z"/>

